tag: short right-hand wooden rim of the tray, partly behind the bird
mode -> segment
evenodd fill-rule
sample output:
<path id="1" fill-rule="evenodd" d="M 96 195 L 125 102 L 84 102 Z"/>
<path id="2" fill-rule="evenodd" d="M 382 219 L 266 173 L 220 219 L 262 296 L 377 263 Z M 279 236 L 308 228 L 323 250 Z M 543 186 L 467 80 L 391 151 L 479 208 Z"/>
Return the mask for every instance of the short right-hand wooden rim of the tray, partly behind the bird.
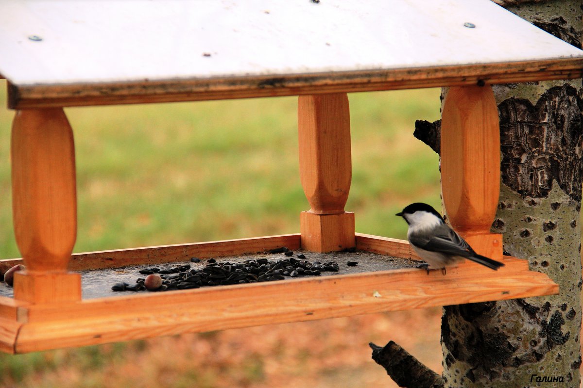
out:
<path id="1" fill-rule="evenodd" d="M 407 240 L 392 239 L 391 237 L 374 236 L 373 234 L 364 233 L 355 233 L 355 235 L 357 250 L 422 261 L 422 259 L 415 253 L 413 248 L 410 247 L 409 241 Z M 502 262 L 504 263 L 504 266 L 498 269 L 499 272 L 529 269 L 528 261 L 525 259 L 504 256 Z M 465 264 L 475 266 L 475 270 L 479 272 L 491 272 L 491 269 L 488 269 L 483 265 L 478 265 L 471 262 Z"/>

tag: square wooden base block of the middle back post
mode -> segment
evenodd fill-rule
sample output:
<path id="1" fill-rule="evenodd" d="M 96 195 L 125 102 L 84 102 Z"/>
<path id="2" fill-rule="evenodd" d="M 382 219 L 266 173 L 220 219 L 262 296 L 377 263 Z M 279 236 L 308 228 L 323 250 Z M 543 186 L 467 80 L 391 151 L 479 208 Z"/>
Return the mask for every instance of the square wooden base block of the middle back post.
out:
<path id="1" fill-rule="evenodd" d="M 354 213 L 300 213 L 301 247 L 312 252 L 342 251 L 356 247 Z"/>

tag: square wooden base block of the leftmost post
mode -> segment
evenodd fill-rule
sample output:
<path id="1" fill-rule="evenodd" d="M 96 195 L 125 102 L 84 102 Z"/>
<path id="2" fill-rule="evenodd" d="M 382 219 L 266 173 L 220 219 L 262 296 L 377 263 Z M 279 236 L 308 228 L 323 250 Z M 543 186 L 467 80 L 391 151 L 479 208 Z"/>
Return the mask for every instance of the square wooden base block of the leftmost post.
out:
<path id="1" fill-rule="evenodd" d="M 14 297 L 30 303 L 81 300 L 81 275 L 75 272 L 16 272 Z"/>

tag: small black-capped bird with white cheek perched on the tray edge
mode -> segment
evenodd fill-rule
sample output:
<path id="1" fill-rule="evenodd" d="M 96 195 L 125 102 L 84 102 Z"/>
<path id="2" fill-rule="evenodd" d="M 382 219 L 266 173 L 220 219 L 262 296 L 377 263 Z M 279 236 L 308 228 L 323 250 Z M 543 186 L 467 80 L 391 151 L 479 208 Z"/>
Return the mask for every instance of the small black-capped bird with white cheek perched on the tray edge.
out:
<path id="1" fill-rule="evenodd" d="M 427 263 L 419 268 L 427 269 L 430 266 L 442 269 L 445 273 L 445 267 L 455 265 L 463 258 L 494 270 L 504 266 L 501 262 L 477 254 L 430 205 L 416 202 L 395 215 L 401 216 L 408 223 L 407 239 L 417 255 Z"/>

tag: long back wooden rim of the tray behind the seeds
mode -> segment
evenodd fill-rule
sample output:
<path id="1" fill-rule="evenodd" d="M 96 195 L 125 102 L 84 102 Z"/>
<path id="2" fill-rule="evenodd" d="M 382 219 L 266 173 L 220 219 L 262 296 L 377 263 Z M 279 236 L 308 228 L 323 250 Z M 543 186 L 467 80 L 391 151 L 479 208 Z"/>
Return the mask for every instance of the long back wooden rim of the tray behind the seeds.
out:
<path id="1" fill-rule="evenodd" d="M 117 268 L 127 265 L 150 265 L 164 262 L 188 261 L 230 255 L 265 252 L 274 248 L 300 248 L 300 234 L 251 237 L 247 239 L 205 241 L 202 243 L 157 245 L 153 247 L 75 253 L 71 255 L 69 270 Z M 0 260 L 0 273 L 16 264 L 24 264 L 22 258 Z"/>

